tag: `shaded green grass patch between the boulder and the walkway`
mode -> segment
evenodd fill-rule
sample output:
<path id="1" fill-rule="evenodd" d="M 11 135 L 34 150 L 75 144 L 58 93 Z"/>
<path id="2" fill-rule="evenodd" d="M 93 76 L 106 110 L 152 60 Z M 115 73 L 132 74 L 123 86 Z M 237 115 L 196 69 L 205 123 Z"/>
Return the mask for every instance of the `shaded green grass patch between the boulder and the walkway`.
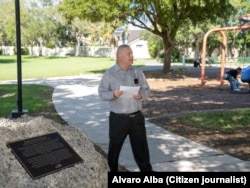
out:
<path id="1" fill-rule="evenodd" d="M 44 116 L 65 124 L 57 114 L 52 101 L 53 88 L 43 85 L 22 85 L 22 106 L 30 116 Z M 0 118 L 11 118 L 13 110 L 18 110 L 17 86 L 0 84 Z"/>

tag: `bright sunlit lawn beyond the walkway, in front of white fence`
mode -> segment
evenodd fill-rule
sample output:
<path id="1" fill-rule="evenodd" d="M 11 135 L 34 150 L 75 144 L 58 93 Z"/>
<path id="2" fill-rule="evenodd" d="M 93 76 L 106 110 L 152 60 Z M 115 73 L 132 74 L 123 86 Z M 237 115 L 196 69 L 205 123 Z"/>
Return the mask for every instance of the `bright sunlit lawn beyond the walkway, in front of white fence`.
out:
<path id="1" fill-rule="evenodd" d="M 113 58 L 94 57 L 31 57 L 22 56 L 22 79 L 72 76 L 87 73 L 102 73 L 114 65 Z M 135 60 L 135 66 L 143 66 Z M 17 79 L 16 56 L 0 56 L 0 80 Z"/>

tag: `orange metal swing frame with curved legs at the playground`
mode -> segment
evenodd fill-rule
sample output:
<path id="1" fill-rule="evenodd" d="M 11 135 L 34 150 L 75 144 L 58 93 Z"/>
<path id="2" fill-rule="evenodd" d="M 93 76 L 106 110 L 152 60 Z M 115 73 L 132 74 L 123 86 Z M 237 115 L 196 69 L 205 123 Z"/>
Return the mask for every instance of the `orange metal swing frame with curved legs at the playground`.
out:
<path id="1" fill-rule="evenodd" d="M 223 27 L 223 28 L 213 28 L 209 30 L 204 38 L 203 38 L 203 46 L 202 46 L 202 56 L 201 56 L 201 85 L 205 85 L 205 58 L 206 58 L 206 51 L 207 51 L 207 38 L 209 34 L 212 32 L 218 32 L 222 36 L 222 51 L 221 51 L 221 70 L 220 70 L 220 85 L 224 84 L 224 69 L 225 69 L 225 59 L 226 59 L 226 47 L 227 47 L 227 37 L 224 31 L 230 30 L 247 30 L 250 29 L 250 25 L 245 25 L 246 23 L 250 22 L 250 14 L 243 15 L 239 17 L 239 20 L 243 22 L 240 26 L 233 26 L 233 27 Z"/>

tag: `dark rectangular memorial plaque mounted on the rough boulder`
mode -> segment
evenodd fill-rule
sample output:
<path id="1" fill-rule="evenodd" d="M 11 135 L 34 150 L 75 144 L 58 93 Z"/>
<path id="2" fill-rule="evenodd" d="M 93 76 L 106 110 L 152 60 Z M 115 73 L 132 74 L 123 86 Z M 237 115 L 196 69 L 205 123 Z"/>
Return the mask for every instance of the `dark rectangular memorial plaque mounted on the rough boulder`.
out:
<path id="1" fill-rule="evenodd" d="M 9 142 L 7 146 L 33 179 L 83 162 L 57 132 Z"/>

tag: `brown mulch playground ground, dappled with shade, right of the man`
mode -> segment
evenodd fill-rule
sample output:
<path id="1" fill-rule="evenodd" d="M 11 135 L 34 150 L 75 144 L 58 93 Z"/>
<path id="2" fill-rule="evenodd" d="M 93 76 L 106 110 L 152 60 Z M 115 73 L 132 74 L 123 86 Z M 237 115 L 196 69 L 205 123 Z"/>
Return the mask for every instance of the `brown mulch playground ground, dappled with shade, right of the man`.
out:
<path id="1" fill-rule="evenodd" d="M 232 93 L 229 83 L 220 82 L 220 68 L 206 67 L 205 85 L 201 84 L 200 68 L 175 68 L 165 75 L 145 71 L 151 97 L 143 102 L 143 113 L 157 126 L 242 160 L 250 160 L 250 130 L 234 133 L 200 131 L 179 125 L 170 118 L 183 113 L 207 110 L 249 108 L 248 84 L 242 83 L 241 93 Z"/>

